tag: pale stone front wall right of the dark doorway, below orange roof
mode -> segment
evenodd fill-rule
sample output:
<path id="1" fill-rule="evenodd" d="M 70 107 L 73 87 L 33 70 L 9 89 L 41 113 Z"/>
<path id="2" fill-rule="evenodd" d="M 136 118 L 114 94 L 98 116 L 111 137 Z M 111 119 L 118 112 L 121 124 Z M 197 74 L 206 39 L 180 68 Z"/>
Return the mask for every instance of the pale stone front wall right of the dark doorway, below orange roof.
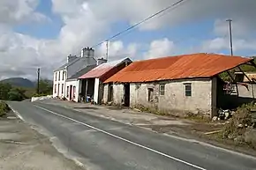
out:
<path id="1" fill-rule="evenodd" d="M 212 82 L 211 79 L 161 82 L 161 84 L 165 84 L 164 95 L 160 95 L 159 93 L 159 83 L 131 84 L 131 107 L 143 105 L 145 107 L 157 107 L 159 110 L 164 111 L 190 111 L 212 115 L 212 107 L 216 103 L 212 100 L 214 89 Z M 191 97 L 185 97 L 184 84 L 192 85 Z M 148 100 L 149 88 L 153 89 L 153 98 L 150 101 Z"/>

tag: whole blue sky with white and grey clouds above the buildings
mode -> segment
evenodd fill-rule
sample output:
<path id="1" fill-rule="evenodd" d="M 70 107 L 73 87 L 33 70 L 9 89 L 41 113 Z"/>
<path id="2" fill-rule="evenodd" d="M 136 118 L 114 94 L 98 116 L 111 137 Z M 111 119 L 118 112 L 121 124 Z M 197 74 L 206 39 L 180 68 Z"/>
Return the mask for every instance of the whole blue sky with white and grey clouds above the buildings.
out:
<path id="1" fill-rule="evenodd" d="M 0 79 L 52 78 L 67 55 L 79 55 L 177 0 L 1 0 Z M 109 61 L 167 55 L 256 55 L 255 0 L 185 0 L 175 8 L 109 41 Z M 95 47 L 96 56 L 106 45 Z"/>

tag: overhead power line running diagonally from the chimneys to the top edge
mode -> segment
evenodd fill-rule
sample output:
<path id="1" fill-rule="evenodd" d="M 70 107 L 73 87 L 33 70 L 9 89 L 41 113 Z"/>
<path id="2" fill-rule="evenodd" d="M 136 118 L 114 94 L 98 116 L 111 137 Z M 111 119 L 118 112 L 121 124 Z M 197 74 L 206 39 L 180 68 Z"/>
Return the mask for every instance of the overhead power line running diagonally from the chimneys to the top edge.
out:
<path id="1" fill-rule="evenodd" d="M 119 36 L 119 35 L 121 35 L 121 34 L 123 34 L 123 33 L 126 33 L 126 32 L 128 32 L 128 31 L 132 30 L 133 28 L 135 28 L 135 27 L 137 27 L 137 26 L 139 26 L 139 25 L 145 23 L 147 20 L 149 20 L 149 19 L 151 19 L 151 18 L 154 18 L 155 16 L 161 14 L 161 13 L 164 12 L 164 11 L 168 11 L 170 8 L 175 7 L 176 5 L 181 4 L 181 3 L 183 3 L 184 1 L 185 1 L 185 0 L 179 0 L 179 1 L 177 1 L 177 3 L 171 4 L 171 5 L 169 5 L 168 7 L 162 9 L 161 11 L 157 11 L 156 13 L 154 13 L 154 14 L 151 15 L 151 16 L 149 16 L 148 18 L 145 18 L 145 19 L 139 21 L 137 24 L 132 25 L 132 26 L 126 28 L 124 31 L 121 31 L 121 32 L 119 32 L 119 33 L 117 33 L 117 34 L 115 34 L 115 35 L 109 37 L 109 38 L 106 39 L 105 41 L 102 41 L 102 42 L 100 42 L 100 43 L 98 43 L 98 44 L 95 44 L 92 48 L 95 48 L 95 47 L 97 47 L 97 46 L 100 46 L 100 45 L 102 45 L 102 43 L 104 43 L 104 42 L 106 42 L 106 41 L 110 41 L 110 40 L 116 38 L 117 36 Z"/>

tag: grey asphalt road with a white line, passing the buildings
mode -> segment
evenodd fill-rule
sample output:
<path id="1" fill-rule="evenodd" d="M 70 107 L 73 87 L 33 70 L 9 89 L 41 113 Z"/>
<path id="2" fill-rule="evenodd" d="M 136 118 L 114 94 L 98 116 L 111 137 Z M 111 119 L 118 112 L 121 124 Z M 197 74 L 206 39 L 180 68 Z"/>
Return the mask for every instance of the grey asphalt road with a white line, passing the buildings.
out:
<path id="1" fill-rule="evenodd" d="M 252 170 L 256 159 L 168 137 L 69 108 L 10 102 L 26 122 L 49 131 L 92 170 Z M 90 110 L 88 110 L 90 112 Z"/>

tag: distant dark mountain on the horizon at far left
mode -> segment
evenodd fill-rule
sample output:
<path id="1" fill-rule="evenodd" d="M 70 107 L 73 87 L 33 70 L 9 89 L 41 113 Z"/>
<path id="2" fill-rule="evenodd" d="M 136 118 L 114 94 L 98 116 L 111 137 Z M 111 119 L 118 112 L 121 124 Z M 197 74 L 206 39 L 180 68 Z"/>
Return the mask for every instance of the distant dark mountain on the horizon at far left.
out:
<path id="1" fill-rule="evenodd" d="M 19 87 L 29 87 L 29 88 L 35 87 L 35 83 L 26 78 L 7 78 L 4 80 L 1 80 L 0 83 L 9 83 L 13 86 L 19 86 Z"/>

